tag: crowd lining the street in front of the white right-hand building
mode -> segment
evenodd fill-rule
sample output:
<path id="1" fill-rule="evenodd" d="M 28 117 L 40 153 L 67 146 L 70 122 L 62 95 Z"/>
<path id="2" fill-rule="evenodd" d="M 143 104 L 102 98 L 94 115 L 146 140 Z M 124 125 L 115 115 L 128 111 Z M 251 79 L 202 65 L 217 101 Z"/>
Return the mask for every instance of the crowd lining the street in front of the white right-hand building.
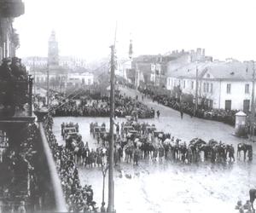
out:
<path id="1" fill-rule="evenodd" d="M 219 122 L 224 122 L 225 124 L 235 125 L 236 122 L 236 112 L 237 110 L 224 110 L 224 109 L 208 109 L 204 107 L 199 107 L 195 112 L 195 104 L 182 101 L 182 103 L 175 97 L 169 97 L 167 95 L 155 95 L 153 91 L 148 89 L 139 89 L 144 95 L 152 98 L 153 101 L 171 107 L 180 112 L 189 114 L 191 117 L 195 116 L 197 118 L 205 118 L 216 120 Z"/>

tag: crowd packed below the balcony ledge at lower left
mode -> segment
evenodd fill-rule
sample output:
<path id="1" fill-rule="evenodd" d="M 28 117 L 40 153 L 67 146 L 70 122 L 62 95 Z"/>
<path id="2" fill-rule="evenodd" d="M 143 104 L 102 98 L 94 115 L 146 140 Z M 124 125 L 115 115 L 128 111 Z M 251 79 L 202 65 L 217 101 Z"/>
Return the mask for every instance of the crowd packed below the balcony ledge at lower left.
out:
<path id="1" fill-rule="evenodd" d="M 68 211 L 97 212 L 91 186 L 84 185 L 83 187 L 81 185 L 79 171 L 74 163 L 73 151 L 58 144 L 52 132 L 52 124 L 53 119 L 51 116 L 48 116 L 44 120 L 44 130 L 61 178 L 61 186 L 65 194 Z"/>

